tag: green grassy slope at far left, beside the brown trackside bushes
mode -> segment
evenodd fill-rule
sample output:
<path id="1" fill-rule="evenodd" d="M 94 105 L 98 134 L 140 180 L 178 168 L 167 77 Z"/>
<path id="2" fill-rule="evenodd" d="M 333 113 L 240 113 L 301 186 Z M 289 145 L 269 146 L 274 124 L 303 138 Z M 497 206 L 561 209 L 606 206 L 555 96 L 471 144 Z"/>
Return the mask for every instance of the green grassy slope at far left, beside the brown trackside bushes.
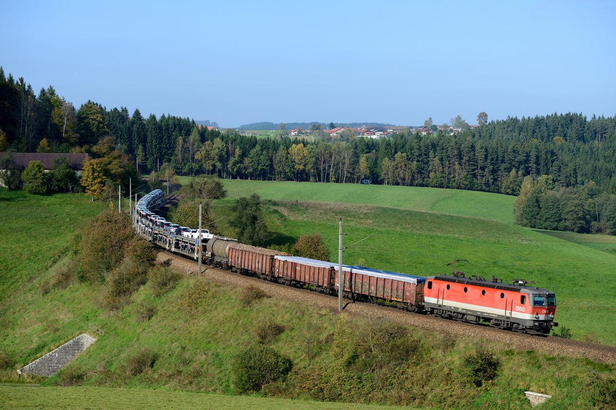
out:
<path id="1" fill-rule="evenodd" d="M 14 366 L 67 341 L 99 314 L 86 286 L 41 295 L 67 264 L 76 229 L 105 207 L 82 194 L 38 196 L 0 188 L 0 362 Z M 23 341 L 27 340 L 27 343 Z M 27 364 L 27 363 L 23 363 Z"/>

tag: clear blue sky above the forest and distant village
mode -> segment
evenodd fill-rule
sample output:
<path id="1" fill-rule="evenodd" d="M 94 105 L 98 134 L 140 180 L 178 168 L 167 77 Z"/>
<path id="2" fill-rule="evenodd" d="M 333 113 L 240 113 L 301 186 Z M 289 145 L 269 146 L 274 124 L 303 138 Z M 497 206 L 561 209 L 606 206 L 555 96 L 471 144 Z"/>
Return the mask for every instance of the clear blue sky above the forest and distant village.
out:
<path id="1" fill-rule="evenodd" d="M 0 65 L 76 107 L 435 124 L 616 114 L 614 1 L 0 0 Z"/>

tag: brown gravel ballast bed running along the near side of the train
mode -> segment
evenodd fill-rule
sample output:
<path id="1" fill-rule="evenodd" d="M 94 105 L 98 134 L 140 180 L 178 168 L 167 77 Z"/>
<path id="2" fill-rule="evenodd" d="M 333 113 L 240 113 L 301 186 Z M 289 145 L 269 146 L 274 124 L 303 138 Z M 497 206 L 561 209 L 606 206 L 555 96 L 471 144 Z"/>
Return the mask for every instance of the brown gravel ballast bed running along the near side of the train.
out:
<path id="1" fill-rule="evenodd" d="M 171 260 L 171 269 L 183 274 L 197 275 L 197 262 L 182 258 L 175 254 L 161 251 L 156 261 Z M 301 304 L 310 304 L 321 309 L 338 311 L 338 298 L 317 293 L 310 290 L 293 288 L 278 283 L 267 282 L 256 277 L 234 274 L 228 270 L 217 269 L 203 264 L 204 278 L 214 282 L 233 286 L 255 286 L 269 296 L 286 299 Z M 530 336 L 529 334 L 514 333 L 488 326 L 472 325 L 454 320 L 437 318 L 431 315 L 404 312 L 391 307 L 378 306 L 362 302 L 350 302 L 344 299 L 344 312 L 350 315 L 379 315 L 402 325 L 416 326 L 418 328 L 436 331 L 439 333 L 452 333 L 460 336 L 489 339 L 493 342 L 505 344 L 517 350 L 542 350 L 552 355 L 585 357 L 594 361 L 616 364 L 616 347 L 591 344 L 580 341 L 562 339 L 561 337 Z"/>

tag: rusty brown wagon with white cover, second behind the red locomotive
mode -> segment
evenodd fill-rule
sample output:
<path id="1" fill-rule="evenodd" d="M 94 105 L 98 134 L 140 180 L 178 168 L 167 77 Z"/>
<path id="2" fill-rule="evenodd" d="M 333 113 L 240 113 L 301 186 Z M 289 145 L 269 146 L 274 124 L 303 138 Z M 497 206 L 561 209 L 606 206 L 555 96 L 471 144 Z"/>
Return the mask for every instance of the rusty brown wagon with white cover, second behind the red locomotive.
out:
<path id="1" fill-rule="evenodd" d="M 334 264 L 299 256 L 274 257 L 274 277 L 288 285 L 312 285 L 329 293 L 334 285 Z"/>

